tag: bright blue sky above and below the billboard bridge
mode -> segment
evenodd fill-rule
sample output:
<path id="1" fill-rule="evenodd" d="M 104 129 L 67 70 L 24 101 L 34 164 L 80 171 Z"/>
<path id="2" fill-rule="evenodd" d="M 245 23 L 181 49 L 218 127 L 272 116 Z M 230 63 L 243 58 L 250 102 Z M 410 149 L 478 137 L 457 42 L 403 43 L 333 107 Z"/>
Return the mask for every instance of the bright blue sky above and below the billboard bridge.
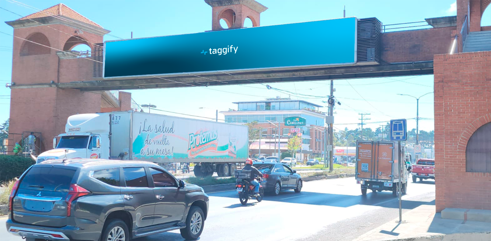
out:
<path id="1" fill-rule="evenodd" d="M 27 5 L 45 9 L 59 3 L 59 0 L 19 0 Z M 425 18 L 455 15 L 455 0 L 259 0 L 269 9 L 261 14 L 261 26 L 288 24 L 305 21 L 340 18 L 346 5 L 346 16 L 358 18 L 377 17 L 383 24 L 424 21 Z M 300 3 L 301 2 L 301 3 Z M 211 30 L 211 7 L 203 0 L 65 0 L 64 4 L 98 23 L 111 34 L 122 38 L 133 36 L 149 37 L 183 34 Z M 36 12 L 7 0 L 0 0 L 0 6 L 23 16 Z M 491 10 L 483 16 L 482 26 L 491 25 Z M 0 20 L 11 21 L 17 15 L 0 9 Z M 0 24 L 0 31 L 12 33 L 6 24 Z M 333 37 L 335 33 L 333 32 Z M 104 40 L 116 39 L 107 35 Z M 254 39 L 251 39 L 254 41 Z M 12 36 L 0 33 L 0 121 L 9 116 L 10 90 L 4 84 L 10 82 L 12 68 Z M 383 83 L 383 84 L 379 84 Z M 350 86 L 350 84 L 352 86 Z M 295 82 L 271 84 L 274 88 L 309 95 L 328 95 L 328 81 Z M 366 122 L 388 121 L 390 119 L 411 119 L 416 116 L 416 100 L 406 93 L 420 96 L 433 91 L 433 76 L 409 76 L 394 78 L 372 78 L 354 80 L 335 80 L 335 97 L 341 106 L 335 109 L 335 127 L 354 129 L 358 113 L 371 113 Z M 235 101 L 262 100 L 267 97 L 288 97 L 276 90 L 267 90 L 262 85 L 240 85 L 208 88 L 177 88 L 154 90 L 131 90 L 133 99 L 139 104 L 154 104 L 158 109 L 215 118 L 215 110 L 236 109 Z M 297 98 L 291 96 L 292 98 Z M 297 98 L 298 99 L 298 98 Z M 325 105 L 324 99 L 305 99 Z M 200 109 L 200 107 L 203 107 Z M 321 108 L 327 111 L 327 108 Z M 165 112 L 157 112 L 169 114 Z M 420 100 L 421 118 L 434 118 L 433 94 Z M 175 115 L 175 114 L 170 114 Z M 218 115 L 223 119 L 223 115 Z M 381 123 L 367 124 L 377 128 Z M 433 130 L 433 120 L 421 120 L 420 129 Z M 408 121 L 408 128 L 415 128 L 415 121 Z"/>

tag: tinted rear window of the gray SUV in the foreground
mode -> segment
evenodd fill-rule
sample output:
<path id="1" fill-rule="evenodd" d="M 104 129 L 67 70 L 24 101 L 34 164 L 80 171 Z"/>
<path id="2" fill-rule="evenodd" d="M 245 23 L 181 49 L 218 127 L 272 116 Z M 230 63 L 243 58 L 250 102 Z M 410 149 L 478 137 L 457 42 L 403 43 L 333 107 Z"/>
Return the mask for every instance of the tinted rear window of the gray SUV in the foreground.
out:
<path id="1" fill-rule="evenodd" d="M 68 192 L 76 170 L 53 166 L 33 166 L 19 188 L 43 191 Z"/>

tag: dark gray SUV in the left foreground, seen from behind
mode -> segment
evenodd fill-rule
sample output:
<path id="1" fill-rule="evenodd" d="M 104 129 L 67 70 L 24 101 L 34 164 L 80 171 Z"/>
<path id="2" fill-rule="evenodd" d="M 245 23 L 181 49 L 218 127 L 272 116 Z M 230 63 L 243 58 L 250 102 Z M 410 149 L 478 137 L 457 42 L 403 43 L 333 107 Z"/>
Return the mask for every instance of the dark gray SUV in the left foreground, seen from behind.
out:
<path id="1" fill-rule="evenodd" d="M 176 229 L 192 240 L 208 195 L 151 162 L 72 159 L 31 166 L 9 205 L 7 230 L 27 241 L 129 241 Z"/>

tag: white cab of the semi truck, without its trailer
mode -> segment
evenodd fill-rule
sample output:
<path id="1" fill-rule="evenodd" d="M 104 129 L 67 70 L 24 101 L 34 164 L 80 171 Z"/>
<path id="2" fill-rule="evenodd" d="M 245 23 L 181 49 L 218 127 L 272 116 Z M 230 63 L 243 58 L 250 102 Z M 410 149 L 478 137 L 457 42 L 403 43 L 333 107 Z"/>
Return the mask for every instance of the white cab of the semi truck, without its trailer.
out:
<path id="1" fill-rule="evenodd" d="M 66 133 L 55 137 L 53 149 L 39 154 L 36 163 L 65 158 L 109 159 L 108 121 L 108 113 L 70 116 Z"/>

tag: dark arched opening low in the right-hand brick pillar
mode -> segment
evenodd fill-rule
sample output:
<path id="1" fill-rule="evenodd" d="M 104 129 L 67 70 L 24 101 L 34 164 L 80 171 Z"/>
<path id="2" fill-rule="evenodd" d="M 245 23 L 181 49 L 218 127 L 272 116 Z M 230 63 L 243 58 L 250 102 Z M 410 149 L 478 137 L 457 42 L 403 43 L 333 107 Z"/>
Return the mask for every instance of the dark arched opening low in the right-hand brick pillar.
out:
<path id="1" fill-rule="evenodd" d="M 491 122 L 470 136 L 465 148 L 465 171 L 491 173 Z"/>

